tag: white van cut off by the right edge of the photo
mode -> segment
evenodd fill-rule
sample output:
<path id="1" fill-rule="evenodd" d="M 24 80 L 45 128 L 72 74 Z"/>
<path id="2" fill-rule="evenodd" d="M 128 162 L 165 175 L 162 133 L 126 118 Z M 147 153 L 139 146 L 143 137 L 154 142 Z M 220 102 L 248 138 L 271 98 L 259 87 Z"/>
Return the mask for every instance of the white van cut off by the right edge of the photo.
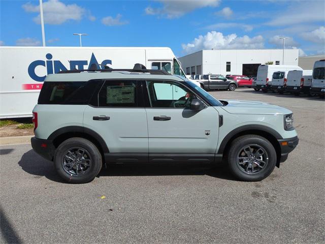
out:
<path id="1" fill-rule="evenodd" d="M 325 59 L 316 61 L 313 69 L 311 92 L 324 97 L 325 94 Z"/>

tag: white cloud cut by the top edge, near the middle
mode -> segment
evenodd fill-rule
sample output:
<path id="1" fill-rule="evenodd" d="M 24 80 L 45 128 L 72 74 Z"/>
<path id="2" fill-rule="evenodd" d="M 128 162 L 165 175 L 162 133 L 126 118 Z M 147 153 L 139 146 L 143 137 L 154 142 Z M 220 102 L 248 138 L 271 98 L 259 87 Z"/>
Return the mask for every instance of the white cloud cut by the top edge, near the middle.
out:
<path id="1" fill-rule="evenodd" d="M 164 6 L 161 8 L 147 7 L 148 15 L 160 15 L 169 19 L 179 18 L 194 9 L 217 7 L 221 0 L 157 0 Z"/>

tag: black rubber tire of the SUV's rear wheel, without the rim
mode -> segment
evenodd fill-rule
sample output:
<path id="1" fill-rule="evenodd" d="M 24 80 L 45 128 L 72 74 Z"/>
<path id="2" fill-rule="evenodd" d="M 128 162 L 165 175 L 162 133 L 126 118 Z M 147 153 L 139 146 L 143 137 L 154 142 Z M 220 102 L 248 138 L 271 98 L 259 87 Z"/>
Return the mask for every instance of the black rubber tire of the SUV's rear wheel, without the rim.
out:
<path id="1" fill-rule="evenodd" d="M 74 176 L 70 175 L 66 172 L 61 164 L 62 158 L 64 154 L 66 154 L 67 150 L 72 147 L 81 147 L 89 153 L 91 157 L 91 166 L 90 170 L 84 175 Z M 54 156 L 54 166 L 57 173 L 67 182 L 69 183 L 86 183 L 95 178 L 96 175 L 100 172 L 102 168 L 102 156 L 98 148 L 90 141 L 84 138 L 70 138 L 66 141 L 63 141 L 57 148 L 55 156 Z"/>

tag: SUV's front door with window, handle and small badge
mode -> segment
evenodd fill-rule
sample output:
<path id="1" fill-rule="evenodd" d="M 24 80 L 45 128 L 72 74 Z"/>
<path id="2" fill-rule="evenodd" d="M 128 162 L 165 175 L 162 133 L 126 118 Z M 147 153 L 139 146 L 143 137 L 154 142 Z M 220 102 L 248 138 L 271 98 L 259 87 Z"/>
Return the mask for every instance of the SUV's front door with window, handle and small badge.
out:
<path id="1" fill-rule="evenodd" d="M 150 103 L 146 107 L 149 160 L 214 158 L 219 132 L 217 110 L 211 106 L 190 110 L 190 102 L 197 96 L 178 82 L 150 80 L 144 87 Z"/>

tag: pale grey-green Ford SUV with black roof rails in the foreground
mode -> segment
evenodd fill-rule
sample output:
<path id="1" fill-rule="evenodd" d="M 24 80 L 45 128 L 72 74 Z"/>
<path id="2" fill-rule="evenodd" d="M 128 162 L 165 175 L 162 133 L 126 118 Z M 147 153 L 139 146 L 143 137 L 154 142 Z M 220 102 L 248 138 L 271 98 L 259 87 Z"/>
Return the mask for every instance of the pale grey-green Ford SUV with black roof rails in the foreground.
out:
<path id="1" fill-rule="evenodd" d="M 298 144 L 291 111 L 217 100 L 139 64 L 48 75 L 33 114 L 32 148 L 71 183 L 93 180 L 105 164 L 222 161 L 240 180 L 262 180 Z"/>

